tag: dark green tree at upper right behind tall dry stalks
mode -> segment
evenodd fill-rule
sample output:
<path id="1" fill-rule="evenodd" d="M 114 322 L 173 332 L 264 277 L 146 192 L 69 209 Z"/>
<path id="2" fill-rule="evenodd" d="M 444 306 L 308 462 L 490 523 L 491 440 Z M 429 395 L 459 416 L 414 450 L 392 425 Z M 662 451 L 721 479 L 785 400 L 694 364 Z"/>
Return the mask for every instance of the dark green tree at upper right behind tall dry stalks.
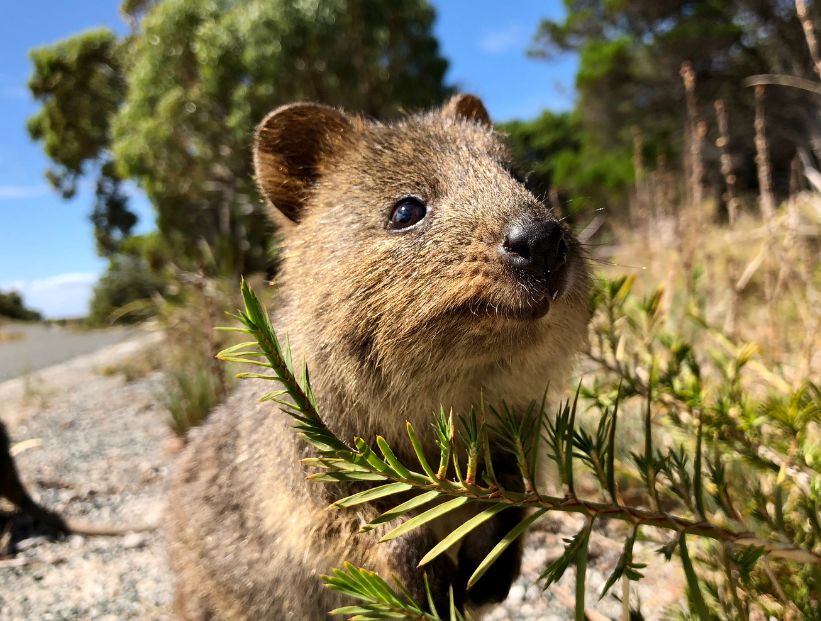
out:
<path id="1" fill-rule="evenodd" d="M 813 76 L 792 0 L 565 0 L 565 7 L 562 19 L 541 23 L 531 53 L 579 54 L 577 114 L 589 136 L 588 164 L 597 153 L 622 153 L 620 165 L 629 167 L 634 127 L 644 137 L 647 161 L 682 152 L 686 114 L 679 70 L 690 61 L 701 117 L 715 127 L 713 103 L 725 101 L 739 181 L 742 188 L 754 187 L 753 96 L 743 79 L 760 73 Z M 821 5 L 813 3 L 811 10 L 818 23 Z M 796 145 L 810 147 L 821 136 L 817 102 L 809 98 L 792 89 L 768 92 L 768 137 L 782 190 Z M 718 154 L 708 149 L 705 156 Z"/>

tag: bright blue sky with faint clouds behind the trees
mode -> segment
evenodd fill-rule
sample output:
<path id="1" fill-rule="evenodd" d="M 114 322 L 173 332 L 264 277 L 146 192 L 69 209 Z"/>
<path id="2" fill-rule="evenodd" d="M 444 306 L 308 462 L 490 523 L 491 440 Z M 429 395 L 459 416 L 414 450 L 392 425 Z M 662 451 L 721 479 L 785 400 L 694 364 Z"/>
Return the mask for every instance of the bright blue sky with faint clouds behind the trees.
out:
<path id="1" fill-rule="evenodd" d="M 33 47 L 95 26 L 124 33 L 119 0 L 11 2 L 0 20 L 0 290 L 23 293 L 48 316 L 79 316 L 105 269 L 96 256 L 88 220 L 90 182 L 71 201 L 57 196 L 43 173 L 48 160 L 26 133 L 36 103 L 26 89 Z M 434 0 L 436 34 L 450 60 L 447 79 L 479 95 L 495 120 L 532 118 L 545 108 L 573 102 L 576 60 L 531 60 L 525 51 L 543 17 L 561 14 L 562 3 L 518 0 Z M 132 188 L 138 233 L 151 230 L 148 202 Z"/>

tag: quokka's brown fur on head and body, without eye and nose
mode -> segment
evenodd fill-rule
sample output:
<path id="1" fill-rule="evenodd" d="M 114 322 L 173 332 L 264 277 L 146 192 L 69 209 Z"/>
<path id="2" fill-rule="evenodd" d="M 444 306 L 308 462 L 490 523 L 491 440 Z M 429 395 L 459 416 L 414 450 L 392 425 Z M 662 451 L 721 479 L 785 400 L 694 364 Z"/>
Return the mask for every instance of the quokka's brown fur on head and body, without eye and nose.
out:
<path id="1" fill-rule="evenodd" d="M 509 160 L 468 95 L 390 124 L 317 104 L 278 108 L 260 124 L 257 180 L 282 232 L 274 324 L 307 361 L 320 413 L 341 437 L 381 434 L 400 449 L 409 420 L 434 454 L 425 430 L 440 404 L 466 413 L 482 394 L 525 406 L 565 383 L 586 334 L 588 268 Z M 409 196 L 423 219 L 391 228 Z M 533 222 L 563 231 L 560 281 L 504 260 L 511 227 Z M 246 384 L 192 433 L 177 468 L 168 536 L 178 614 L 324 619 L 346 600 L 319 576 L 344 561 L 395 577 L 422 601 L 417 562 L 453 520 L 391 543 L 358 534 L 385 507 L 330 509 L 350 489 L 305 481 L 299 459 L 310 450 L 285 414 L 256 403 L 265 387 Z M 498 458 L 497 471 L 520 484 Z M 427 568 L 440 610 L 449 587 L 472 609 L 506 596 L 514 549 L 465 584 L 520 517 L 502 512 Z"/>

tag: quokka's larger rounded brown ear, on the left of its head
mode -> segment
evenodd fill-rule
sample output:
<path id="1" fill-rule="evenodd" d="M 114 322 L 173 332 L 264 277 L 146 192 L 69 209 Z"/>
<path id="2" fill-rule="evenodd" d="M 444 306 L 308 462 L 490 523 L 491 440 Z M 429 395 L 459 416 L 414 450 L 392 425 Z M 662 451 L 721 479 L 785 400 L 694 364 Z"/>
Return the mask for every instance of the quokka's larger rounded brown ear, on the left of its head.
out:
<path id="1" fill-rule="evenodd" d="M 254 171 L 263 196 L 299 222 L 322 159 L 351 129 L 344 112 L 321 104 L 293 103 L 271 111 L 254 136 Z"/>

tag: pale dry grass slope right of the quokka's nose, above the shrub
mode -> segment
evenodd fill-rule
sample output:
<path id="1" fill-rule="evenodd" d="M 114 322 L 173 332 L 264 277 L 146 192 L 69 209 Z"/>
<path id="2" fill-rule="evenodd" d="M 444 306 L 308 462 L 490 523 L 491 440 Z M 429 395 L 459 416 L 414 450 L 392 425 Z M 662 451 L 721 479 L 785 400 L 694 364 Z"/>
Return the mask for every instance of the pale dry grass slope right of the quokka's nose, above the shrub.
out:
<path id="1" fill-rule="evenodd" d="M 739 214 L 734 226 L 709 221 L 712 205 L 681 207 L 615 223 L 617 243 L 601 270 L 638 272 L 637 288 L 665 288 L 671 318 L 697 304 L 711 325 L 759 346 L 763 362 L 790 384 L 821 369 L 821 195 L 799 194 L 763 223 Z M 630 266 L 630 267 L 627 267 Z"/>

